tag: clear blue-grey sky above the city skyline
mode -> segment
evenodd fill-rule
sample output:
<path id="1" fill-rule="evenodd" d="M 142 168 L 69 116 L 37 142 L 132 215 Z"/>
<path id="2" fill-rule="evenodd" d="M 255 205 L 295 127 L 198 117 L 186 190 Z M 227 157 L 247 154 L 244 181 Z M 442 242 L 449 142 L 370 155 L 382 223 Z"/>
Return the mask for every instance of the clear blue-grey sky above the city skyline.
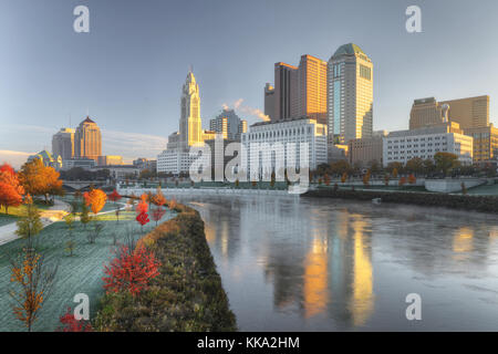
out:
<path id="1" fill-rule="evenodd" d="M 76 33 L 76 6 L 90 32 Z M 422 33 L 405 29 L 422 9 Z M 479 0 L 0 0 L 0 163 L 51 149 L 87 113 L 104 155 L 155 158 L 178 129 L 194 67 L 208 128 L 242 100 L 263 110 L 273 64 L 329 60 L 353 42 L 374 64 L 374 129 L 408 127 L 413 100 L 490 95 L 498 123 L 498 1 Z"/>

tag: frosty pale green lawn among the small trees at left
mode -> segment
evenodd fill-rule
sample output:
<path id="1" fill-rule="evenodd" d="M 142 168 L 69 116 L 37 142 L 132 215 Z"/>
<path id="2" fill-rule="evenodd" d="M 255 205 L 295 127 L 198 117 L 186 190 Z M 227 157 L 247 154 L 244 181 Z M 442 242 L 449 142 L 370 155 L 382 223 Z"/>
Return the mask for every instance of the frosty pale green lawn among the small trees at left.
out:
<path id="1" fill-rule="evenodd" d="M 168 211 L 160 222 L 174 216 Z M 72 300 L 77 293 L 90 296 L 91 316 L 93 316 L 98 299 L 104 293 L 102 289 L 104 264 L 113 258 L 115 249 L 113 236 L 117 235 L 118 242 L 124 243 L 127 232 L 138 239 L 155 227 L 155 222 L 152 221 L 144 227 L 142 233 L 139 225 L 135 221 L 134 211 L 122 211 L 118 223 L 114 214 L 103 215 L 97 219 L 104 225 L 104 229 L 93 244 L 87 240 L 87 231 L 91 230 L 92 222 L 86 226 L 86 230 L 81 222 L 74 223 L 73 239 L 76 247 L 73 257 L 65 251 L 69 236 L 64 222 L 54 222 L 35 237 L 40 252 L 45 256 L 45 262 L 56 263 L 59 270 L 53 292 L 40 311 L 34 331 L 54 331 L 60 325 L 59 317 L 65 313 L 68 306 L 74 308 L 75 303 Z M 9 256 L 17 254 L 23 244 L 23 240 L 15 240 L 0 247 L 0 332 L 25 330 L 14 317 L 11 308 L 13 301 L 8 294 L 9 289 L 12 289 Z"/>

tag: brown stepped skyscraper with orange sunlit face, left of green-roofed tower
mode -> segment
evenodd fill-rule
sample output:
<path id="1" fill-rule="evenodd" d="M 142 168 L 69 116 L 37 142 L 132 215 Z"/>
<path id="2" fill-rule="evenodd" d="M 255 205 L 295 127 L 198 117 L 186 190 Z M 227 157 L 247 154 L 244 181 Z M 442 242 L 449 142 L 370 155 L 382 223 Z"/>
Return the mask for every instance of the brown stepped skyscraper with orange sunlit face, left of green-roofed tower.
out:
<path id="1" fill-rule="evenodd" d="M 299 66 L 276 63 L 271 88 L 270 84 L 264 87 L 264 114 L 272 121 L 307 116 L 326 123 L 325 61 L 304 54 Z"/>

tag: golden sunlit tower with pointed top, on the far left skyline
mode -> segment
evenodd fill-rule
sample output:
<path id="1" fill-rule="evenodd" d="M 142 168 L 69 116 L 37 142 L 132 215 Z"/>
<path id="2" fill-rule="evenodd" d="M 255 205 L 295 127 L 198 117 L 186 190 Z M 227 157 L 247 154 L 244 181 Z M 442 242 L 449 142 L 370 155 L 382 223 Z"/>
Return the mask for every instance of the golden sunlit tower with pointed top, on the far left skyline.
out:
<path id="1" fill-rule="evenodd" d="M 102 155 L 101 129 L 89 116 L 80 123 L 74 135 L 74 155 L 76 158 L 98 160 Z"/>

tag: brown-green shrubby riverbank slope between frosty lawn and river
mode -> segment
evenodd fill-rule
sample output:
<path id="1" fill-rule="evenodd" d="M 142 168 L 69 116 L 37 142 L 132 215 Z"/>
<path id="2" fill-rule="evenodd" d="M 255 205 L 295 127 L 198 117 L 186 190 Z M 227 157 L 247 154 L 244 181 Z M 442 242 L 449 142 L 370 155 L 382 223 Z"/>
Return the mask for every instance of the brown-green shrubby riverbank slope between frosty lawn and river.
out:
<path id="1" fill-rule="evenodd" d="M 160 261 L 159 275 L 136 299 L 105 294 L 94 323 L 104 332 L 236 331 L 216 264 L 206 241 L 204 221 L 186 206 L 178 215 L 138 241 Z"/>

